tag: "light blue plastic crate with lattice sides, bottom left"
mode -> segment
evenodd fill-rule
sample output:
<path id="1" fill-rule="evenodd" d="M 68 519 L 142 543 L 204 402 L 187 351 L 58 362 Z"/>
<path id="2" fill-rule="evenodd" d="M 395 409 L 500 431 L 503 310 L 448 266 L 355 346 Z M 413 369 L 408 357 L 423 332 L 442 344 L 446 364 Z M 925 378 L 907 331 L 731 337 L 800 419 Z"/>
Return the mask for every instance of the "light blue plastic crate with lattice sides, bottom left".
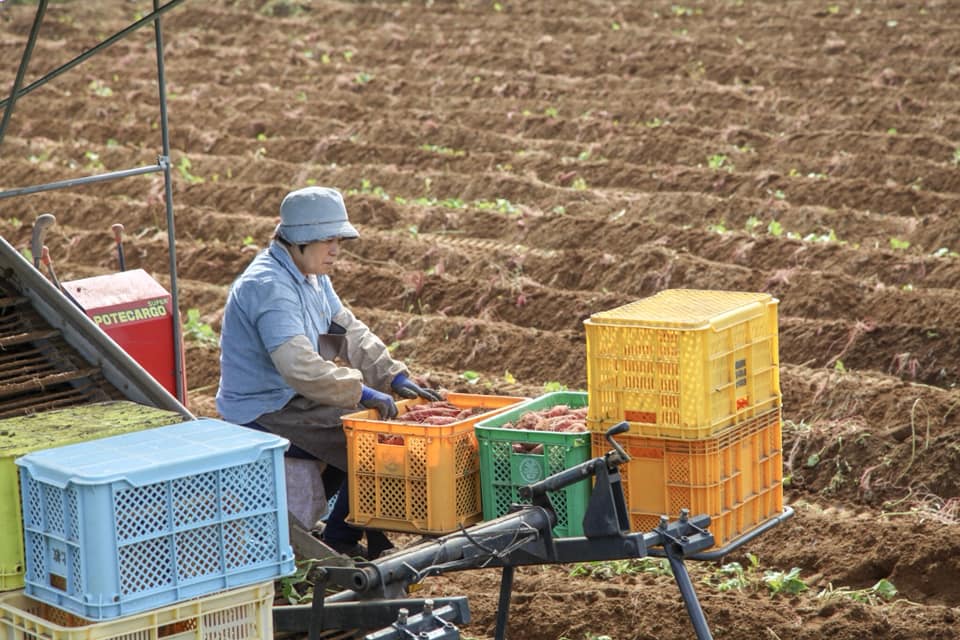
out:
<path id="1" fill-rule="evenodd" d="M 287 446 L 202 419 L 17 459 L 26 593 L 107 620 L 292 573 Z"/>

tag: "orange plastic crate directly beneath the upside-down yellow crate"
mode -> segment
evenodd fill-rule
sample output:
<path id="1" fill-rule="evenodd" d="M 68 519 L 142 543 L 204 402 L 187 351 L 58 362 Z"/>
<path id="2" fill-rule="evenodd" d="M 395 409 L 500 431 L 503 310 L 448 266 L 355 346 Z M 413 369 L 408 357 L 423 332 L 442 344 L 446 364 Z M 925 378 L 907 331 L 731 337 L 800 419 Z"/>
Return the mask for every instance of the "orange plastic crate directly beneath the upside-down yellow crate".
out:
<path id="1" fill-rule="evenodd" d="M 593 455 L 603 455 L 610 444 L 592 435 Z M 660 516 L 674 520 L 688 509 L 710 516 L 719 547 L 783 511 L 779 408 L 703 440 L 616 439 L 631 458 L 620 474 L 632 531 L 651 531 Z"/>

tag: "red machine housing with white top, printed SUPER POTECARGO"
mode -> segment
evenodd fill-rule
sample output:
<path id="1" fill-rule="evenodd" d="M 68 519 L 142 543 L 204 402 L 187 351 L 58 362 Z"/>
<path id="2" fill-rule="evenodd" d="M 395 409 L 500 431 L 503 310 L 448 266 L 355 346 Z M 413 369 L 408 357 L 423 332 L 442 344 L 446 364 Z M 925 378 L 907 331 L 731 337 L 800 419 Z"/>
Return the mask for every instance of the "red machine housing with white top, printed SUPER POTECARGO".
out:
<path id="1" fill-rule="evenodd" d="M 177 394 L 170 293 L 143 269 L 64 282 L 64 289 L 114 342 L 167 391 L 186 402 L 186 372 Z M 183 353 L 183 345 L 177 345 Z M 181 358 L 183 362 L 183 358 Z"/>

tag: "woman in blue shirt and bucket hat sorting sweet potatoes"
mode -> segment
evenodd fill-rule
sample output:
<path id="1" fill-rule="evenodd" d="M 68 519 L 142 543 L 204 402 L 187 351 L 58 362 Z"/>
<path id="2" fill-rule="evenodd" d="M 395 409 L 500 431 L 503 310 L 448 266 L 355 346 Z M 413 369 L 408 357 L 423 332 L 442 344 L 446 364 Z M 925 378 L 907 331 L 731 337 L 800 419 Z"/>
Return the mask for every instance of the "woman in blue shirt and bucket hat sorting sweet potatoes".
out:
<path id="1" fill-rule="evenodd" d="M 326 509 L 326 496 L 339 490 L 321 539 L 340 553 L 372 559 L 392 545 L 382 532 L 369 530 L 364 548 L 363 531 L 344 521 L 347 451 L 340 418 L 358 405 L 395 417 L 391 391 L 440 398 L 410 380 L 404 364 L 334 291 L 329 273 L 340 243 L 358 235 L 335 189 L 287 194 L 273 241 L 227 297 L 217 410 L 225 420 L 290 440 L 291 515 L 310 530 Z"/>

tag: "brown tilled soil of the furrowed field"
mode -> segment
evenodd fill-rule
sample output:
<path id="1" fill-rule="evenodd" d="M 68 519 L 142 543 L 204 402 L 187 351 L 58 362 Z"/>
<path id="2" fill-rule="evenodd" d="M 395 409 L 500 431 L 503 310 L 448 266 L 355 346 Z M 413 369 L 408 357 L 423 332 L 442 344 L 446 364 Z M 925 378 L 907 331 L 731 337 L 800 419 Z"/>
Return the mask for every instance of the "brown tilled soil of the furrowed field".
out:
<path id="1" fill-rule="evenodd" d="M 27 83 L 147 12 L 51 3 Z M 33 3 L 0 3 L 7 95 Z M 344 191 L 335 284 L 429 384 L 586 388 L 582 321 L 668 288 L 780 300 L 786 523 L 691 563 L 730 640 L 960 637 L 960 7 L 925 2 L 186 2 L 164 19 L 181 308 L 219 329 L 283 194 Z M 0 186 L 151 164 L 152 30 L 18 103 Z M 61 279 L 169 284 L 157 175 L 0 200 Z M 215 347 L 188 342 L 215 415 Z M 472 370 L 479 382 L 462 373 Z M 508 373 L 509 372 L 509 373 Z M 757 567 L 750 570 L 750 556 Z M 771 595 L 766 571 L 808 587 Z M 518 570 L 510 637 L 692 637 L 655 573 Z M 429 579 L 492 636 L 499 574 Z M 884 599 L 874 589 L 897 589 Z"/>

